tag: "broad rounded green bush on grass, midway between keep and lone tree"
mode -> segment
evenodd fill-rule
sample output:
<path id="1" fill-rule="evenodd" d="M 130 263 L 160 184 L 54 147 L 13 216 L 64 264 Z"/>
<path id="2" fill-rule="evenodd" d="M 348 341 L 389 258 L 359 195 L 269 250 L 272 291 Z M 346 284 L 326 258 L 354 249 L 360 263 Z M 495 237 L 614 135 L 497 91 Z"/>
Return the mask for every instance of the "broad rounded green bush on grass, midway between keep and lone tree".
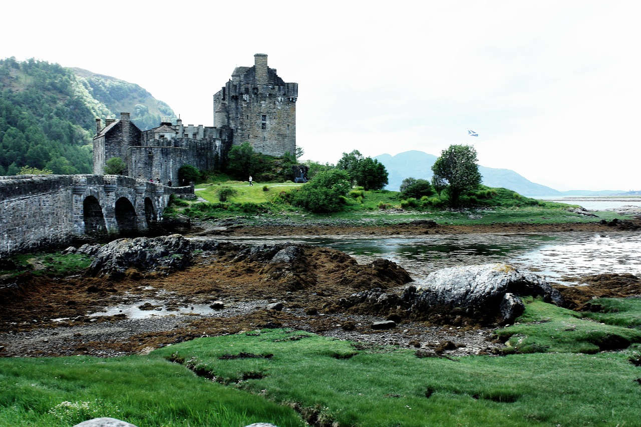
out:
<path id="1" fill-rule="evenodd" d="M 322 171 L 294 194 L 292 203 L 315 213 L 338 212 L 342 208 L 342 197 L 351 187 L 347 172 L 339 169 Z"/>

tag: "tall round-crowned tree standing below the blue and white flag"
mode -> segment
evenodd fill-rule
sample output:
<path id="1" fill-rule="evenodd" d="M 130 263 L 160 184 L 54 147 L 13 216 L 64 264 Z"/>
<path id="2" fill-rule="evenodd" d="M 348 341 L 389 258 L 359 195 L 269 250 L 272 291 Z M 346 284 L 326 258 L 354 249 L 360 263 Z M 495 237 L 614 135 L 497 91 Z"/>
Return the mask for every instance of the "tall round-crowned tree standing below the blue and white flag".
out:
<path id="1" fill-rule="evenodd" d="M 441 155 L 432 166 L 432 184 L 438 192 L 446 191 L 450 206 L 458 205 L 460 196 L 481 185 L 481 174 L 476 158 L 476 149 L 472 146 L 453 144 Z"/>

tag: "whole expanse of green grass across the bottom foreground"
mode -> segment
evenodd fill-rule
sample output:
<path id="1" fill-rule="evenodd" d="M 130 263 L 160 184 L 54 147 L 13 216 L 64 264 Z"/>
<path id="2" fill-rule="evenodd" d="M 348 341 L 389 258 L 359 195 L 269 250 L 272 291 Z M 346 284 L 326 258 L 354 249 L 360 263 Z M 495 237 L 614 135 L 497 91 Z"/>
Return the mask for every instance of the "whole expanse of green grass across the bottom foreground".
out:
<path id="1" fill-rule="evenodd" d="M 567 315 L 537 310 L 528 315 Z M 630 363 L 638 355 L 636 347 L 419 358 L 263 330 L 146 356 L 0 358 L 0 427 L 68 427 L 98 416 L 139 427 L 303 426 L 292 407 L 319 426 L 632 426 L 641 417 L 641 368 Z"/>

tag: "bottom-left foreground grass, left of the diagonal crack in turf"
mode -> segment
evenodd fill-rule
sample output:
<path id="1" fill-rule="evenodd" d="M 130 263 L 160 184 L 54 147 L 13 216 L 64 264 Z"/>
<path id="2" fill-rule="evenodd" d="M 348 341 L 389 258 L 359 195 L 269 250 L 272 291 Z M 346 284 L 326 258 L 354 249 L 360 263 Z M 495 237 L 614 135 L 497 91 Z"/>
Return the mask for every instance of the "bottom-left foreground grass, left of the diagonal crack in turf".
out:
<path id="1" fill-rule="evenodd" d="M 69 427 L 94 417 L 138 427 L 303 426 L 290 408 L 148 356 L 3 358 L 0 390 L 2 427 Z"/>

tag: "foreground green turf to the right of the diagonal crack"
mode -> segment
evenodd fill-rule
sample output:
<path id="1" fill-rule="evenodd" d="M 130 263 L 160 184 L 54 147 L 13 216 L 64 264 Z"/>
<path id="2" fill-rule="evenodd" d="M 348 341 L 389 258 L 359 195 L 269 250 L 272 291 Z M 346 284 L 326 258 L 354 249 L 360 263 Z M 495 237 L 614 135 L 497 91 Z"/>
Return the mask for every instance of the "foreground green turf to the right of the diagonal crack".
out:
<path id="1" fill-rule="evenodd" d="M 240 353 L 271 357 L 224 357 Z M 355 349 L 271 330 L 198 339 L 153 355 L 185 360 L 230 387 L 296 402 L 325 425 L 615 426 L 641 415 L 641 372 L 626 354 L 417 358 L 397 347 Z"/>

